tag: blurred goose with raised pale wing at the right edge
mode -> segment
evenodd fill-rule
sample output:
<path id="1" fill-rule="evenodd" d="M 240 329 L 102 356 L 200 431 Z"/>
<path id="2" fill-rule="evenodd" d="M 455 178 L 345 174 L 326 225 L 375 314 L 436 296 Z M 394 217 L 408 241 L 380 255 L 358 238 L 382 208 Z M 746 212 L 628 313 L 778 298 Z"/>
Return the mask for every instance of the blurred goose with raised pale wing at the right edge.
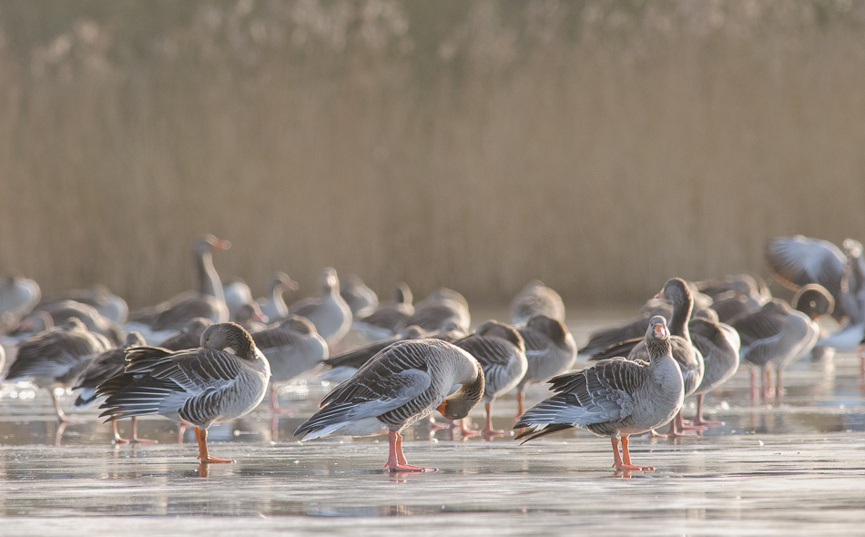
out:
<path id="1" fill-rule="evenodd" d="M 790 290 L 816 283 L 835 300 L 832 317 L 850 318 L 850 324 L 865 323 L 865 258 L 859 241 L 847 238 L 841 244 L 819 238 L 777 237 L 768 242 L 766 262 L 775 279 Z M 853 348 L 850 348 L 853 349 Z"/>

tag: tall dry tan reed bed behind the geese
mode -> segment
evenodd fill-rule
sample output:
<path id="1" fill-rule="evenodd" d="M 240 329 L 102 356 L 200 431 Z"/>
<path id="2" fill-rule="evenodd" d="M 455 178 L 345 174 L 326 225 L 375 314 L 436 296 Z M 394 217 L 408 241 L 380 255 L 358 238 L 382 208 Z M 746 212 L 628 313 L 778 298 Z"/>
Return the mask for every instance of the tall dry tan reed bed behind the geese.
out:
<path id="1" fill-rule="evenodd" d="M 865 3 L 0 2 L 0 272 L 569 301 L 865 238 Z"/>

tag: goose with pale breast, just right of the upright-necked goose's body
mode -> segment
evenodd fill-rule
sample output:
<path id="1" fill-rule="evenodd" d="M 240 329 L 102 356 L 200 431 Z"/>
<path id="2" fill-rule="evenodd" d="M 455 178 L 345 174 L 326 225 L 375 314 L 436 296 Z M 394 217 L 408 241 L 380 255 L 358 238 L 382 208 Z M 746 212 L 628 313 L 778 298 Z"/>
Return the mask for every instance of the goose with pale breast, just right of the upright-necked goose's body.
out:
<path id="1" fill-rule="evenodd" d="M 733 327 L 711 319 L 691 319 L 687 323 L 691 343 L 703 356 L 703 380 L 694 393 L 697 395 L 697 417 L 691 420 L 698 427 L 721 425 L 720 421 L 703 418 L 703 399 L 706 394 L 730 380 L 738 371 L 738 350 L 741 341 Z"/>

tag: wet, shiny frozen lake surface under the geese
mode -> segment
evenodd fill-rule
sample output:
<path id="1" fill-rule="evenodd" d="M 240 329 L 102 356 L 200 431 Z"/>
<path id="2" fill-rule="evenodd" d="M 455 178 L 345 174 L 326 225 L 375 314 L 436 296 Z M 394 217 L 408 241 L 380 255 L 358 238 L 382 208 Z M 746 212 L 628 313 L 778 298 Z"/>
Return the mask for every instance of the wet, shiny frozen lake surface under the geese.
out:
<path id="1" fill-rule="evenodd" d="M 626 313 L 569 311 L 568 324 L 583 343 L 588 330 Z M 629 475 L 612 471 L 609 441 L 587 431 L 520 446 L 513 437 L 431 437 L 425 422 L 406 433 L 406 456 L 439 471 L 391 475 L 382 470 L 384 437 L 294 441 L 327 391 L 314 382 L 284 391 L 295 416 L 271 420 L 262 408 L 214 426 L 211 452 L 235 463 L 199 466 L 191 433 L 178 445 L 171 421 L 139 422 L 141 435 L 158 444 L 113 446 L 96 410 L 84 413 L 89 422 L 58 431 L 45 392 L 6 386 L 0 534 L 860 535 L 858 367 L 844 354 L 801 361 L 785 376 L 783 404 L 771 407 L 751 403 L 748 370 L 740 370 L 707 397 L 707 417 L 724 426 L 694 439 L 632 438 L 635 462 L 656 471 Z M 527 402 L 546 393 L 536 386 Z M 63 399 L 66 408 L 71 401 Z M 513 395 L 494 410 L 494 425 L 509 429 Z"/>

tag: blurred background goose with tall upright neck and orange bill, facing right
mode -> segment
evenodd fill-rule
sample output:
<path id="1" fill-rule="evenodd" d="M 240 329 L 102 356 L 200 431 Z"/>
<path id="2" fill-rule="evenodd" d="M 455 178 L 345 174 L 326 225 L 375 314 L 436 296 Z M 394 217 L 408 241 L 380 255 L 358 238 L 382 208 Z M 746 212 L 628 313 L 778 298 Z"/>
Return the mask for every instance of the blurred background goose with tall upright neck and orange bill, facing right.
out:
<path id="1" fill-rule="evenodd" d="M 148 341 L 159 341 L 182 329 L 189 319 L 205 317 L 213 322 L 227 321 L 229 309 L 225 305 L 219 274 L 213 267 L 213 251 L 230 247 L 228 240 L 212 235 L 199 238 L 192 248 L 198 272 L 198 291 L 180 293 L 152 308 L 132 312 L 125 327 L 127 331 L 137 330 Z"/>

